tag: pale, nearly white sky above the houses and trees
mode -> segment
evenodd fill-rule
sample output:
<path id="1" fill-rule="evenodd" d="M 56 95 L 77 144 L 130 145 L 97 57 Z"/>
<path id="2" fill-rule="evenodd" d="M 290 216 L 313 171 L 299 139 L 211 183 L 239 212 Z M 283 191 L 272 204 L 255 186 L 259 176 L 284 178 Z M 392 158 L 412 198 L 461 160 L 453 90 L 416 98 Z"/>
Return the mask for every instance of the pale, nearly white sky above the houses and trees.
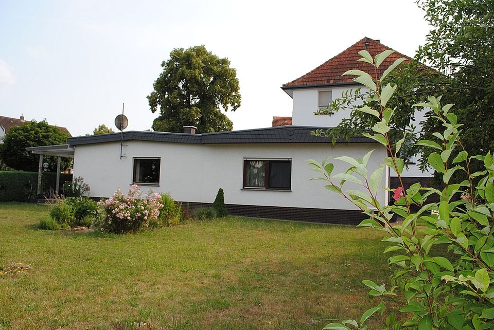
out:
<path id="1" fill-rule="evenodd" d="M 429 26 L 414 0 L 0 0 L 0 115 L 65 126 L 151 128 L 146 96 L 173 48 L 205 45 L 237 70 L 234 130 L 291 116 L 280 86 L 367 36 L 408 56 Z"/>

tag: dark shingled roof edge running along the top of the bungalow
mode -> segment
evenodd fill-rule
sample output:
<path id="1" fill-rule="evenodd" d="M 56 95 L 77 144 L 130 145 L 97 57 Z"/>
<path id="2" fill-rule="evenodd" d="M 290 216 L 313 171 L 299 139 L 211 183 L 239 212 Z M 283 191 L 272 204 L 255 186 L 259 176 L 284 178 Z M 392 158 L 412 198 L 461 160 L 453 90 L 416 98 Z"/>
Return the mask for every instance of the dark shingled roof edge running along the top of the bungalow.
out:
<path id="1" fill-rule="evenodd" d="M 331 139 L 317 137 L 310 132 L 329 127 L 310 126 L 277 126 L 264 129 L 252 129 L 230 132 L 216 132 L 203 134 L 167 133 L 167 132 L 138 132 L 81 136 L 68 139 L 70 146 L 123 141 L 151 141 L 187 144 L 230 144 L 230 143 L 331 143 Z M 366 137 L 352 137 L 350 141 L 337 140 L 338 143 L 376 143 Z"/>

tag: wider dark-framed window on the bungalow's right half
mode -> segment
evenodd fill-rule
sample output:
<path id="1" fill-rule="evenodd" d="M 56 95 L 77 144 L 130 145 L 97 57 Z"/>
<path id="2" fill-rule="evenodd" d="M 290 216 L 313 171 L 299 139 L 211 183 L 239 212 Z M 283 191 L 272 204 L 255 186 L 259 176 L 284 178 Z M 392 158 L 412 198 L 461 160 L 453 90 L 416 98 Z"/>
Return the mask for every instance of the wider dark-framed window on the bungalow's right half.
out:
<path id="1" fill-rule="evenodd" d="M 291 160 L 243 161 L 243 188 L 290 190 L 291 176 Z"/>

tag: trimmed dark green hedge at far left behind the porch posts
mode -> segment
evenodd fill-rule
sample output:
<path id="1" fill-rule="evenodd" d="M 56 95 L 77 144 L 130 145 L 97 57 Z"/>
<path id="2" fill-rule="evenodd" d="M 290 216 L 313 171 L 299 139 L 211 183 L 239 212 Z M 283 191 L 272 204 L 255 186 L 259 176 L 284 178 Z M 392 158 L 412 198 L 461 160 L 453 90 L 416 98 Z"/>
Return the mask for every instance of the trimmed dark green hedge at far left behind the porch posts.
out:
<path id="1" fill-rule="evenodd" d="M 56 173 L 43 173 L 43 190 L 55 189 Z M 60 173 L 60 188 L 72 181 L 72 174 Z M 0 201 L 26 201 L 37 198 L 38 172 L 0 171 Z M 59 191 L 61 191 L 59 189 Z"/>

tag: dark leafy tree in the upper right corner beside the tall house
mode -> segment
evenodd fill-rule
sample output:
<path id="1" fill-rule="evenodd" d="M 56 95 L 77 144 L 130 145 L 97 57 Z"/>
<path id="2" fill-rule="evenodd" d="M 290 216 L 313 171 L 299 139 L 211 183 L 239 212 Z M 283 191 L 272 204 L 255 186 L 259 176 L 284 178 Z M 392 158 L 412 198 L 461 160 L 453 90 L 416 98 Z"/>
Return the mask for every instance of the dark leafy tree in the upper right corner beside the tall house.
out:
<path id="1" fill-rule="evenodd" d="M 458 122 L 463 123 L 462 143 L 472 154 L 494 149 L 494 1 L 492 0 L 419 0 L 425 19 L 433 29 L 425 45 L 419 47 L 416 61 L 403 63 L 387 76 L 398 86 L 396 98 L 387 105 L 395 108 L 391 123 L 391 140 L 397 142 L 408 132 L 409 142 L 430 139 L 442 131 L 442 123 L 426 114 L 420 132 L 411 126 L 417 109 L 413 104 L 428 96 L 444 95 L 443 103 L 454 103 Z M 420 64 L 426 63 L 430 68 Z M 351 108 L 351 100 L 365 99 L 374 106 L 376 101 L 361 93 L 351 93 L 334 102 L 326 113 Z M 377 120 L 374 116 L 352 110 L 349 118 L 329 137 L 349 137 L 370 130 Z M 401 156 L 421 155 L 422 168 L 433 151 L 425 146 L 405 143 Z M 453 151 L 453 154 L 458 150 Z"/>

